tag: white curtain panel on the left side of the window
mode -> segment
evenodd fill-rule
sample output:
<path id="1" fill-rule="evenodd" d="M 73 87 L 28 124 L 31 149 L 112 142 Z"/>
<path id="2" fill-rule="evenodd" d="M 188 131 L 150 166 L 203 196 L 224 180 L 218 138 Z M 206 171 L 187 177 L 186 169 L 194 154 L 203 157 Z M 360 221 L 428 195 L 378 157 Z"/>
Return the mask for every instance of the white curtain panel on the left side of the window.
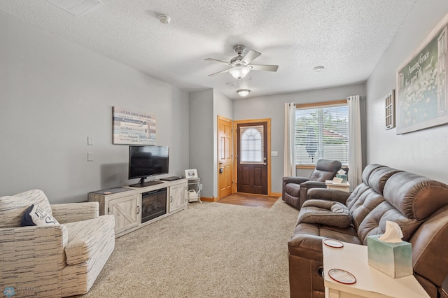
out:
<path id="1" fill-rule="evenodd" d="M 283 166 L 283 176 L 295 176 L 294 160 L 295 143 L 295 104 L 285 104 L 285 161 Z"/>

